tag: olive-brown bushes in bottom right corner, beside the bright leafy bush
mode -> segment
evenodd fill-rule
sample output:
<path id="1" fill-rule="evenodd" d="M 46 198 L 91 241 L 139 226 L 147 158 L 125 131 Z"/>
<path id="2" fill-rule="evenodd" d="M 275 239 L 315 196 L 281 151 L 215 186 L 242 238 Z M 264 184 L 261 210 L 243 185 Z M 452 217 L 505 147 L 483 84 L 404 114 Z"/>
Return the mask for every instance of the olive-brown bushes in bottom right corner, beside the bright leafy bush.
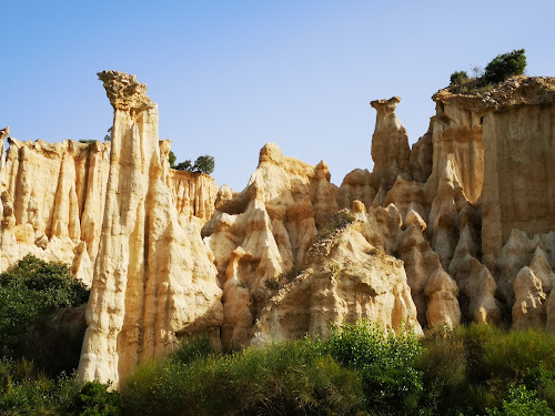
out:
<path id="1" fill-rule="evenodd" d="M 512 389 L 518 386 L 526 387 L 534 403 L 537 395 L 538 403 L 545 402 L 552 408 L 555 404 L 555 335 L 473 324 L 428 336 L 422 344 L 422 406 L 425 403 L 432 415 L 506 412 L 503 400 L 507 408 L 513 406 L 508 405 L 514 402 Z"/>

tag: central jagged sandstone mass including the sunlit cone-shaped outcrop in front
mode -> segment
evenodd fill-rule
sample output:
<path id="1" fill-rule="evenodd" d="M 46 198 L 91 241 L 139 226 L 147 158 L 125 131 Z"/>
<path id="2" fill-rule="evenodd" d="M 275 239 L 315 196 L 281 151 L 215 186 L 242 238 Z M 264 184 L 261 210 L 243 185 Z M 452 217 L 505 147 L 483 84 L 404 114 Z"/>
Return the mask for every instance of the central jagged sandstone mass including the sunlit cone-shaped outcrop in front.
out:
<path id="1" fill-rule="evenodd" d="M 325 337 L 330 323 L 360 318 L 421 331 L 402 263 L 366 241 L 362 221 L 327 224 L 337 197 L 327 165 L 286 158 L 272 143 L 241 194 L 221 192 L 203 235 L 223 287 L 224 345 Z"/>

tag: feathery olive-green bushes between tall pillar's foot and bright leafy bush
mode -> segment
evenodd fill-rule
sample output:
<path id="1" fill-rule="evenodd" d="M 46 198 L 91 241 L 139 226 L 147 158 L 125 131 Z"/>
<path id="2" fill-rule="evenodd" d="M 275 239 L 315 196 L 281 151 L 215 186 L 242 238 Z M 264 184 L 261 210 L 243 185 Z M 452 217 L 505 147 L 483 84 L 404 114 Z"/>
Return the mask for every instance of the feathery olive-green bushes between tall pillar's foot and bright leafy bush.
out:
<path id="1" fill-rule="evenodd" d="M 128 378 L 130 415 L 351 415 L 362 378 L 309 339 L 231 355 L 140 365 Z"/>

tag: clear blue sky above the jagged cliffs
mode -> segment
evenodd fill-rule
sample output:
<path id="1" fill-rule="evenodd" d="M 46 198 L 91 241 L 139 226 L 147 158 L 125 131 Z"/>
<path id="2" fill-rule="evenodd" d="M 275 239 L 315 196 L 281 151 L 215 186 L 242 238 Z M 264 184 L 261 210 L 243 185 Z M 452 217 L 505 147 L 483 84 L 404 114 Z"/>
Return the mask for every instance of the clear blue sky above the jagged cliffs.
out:
<path id="1" fill-rule="evenodd" d="M 526 49 L 555 75 L 555 1 L 2 1 L 0 128 L 19 140 L 102 140 L 112 109 L 95 73 L 133 73 L 178 161 L 215 158 L 241 191 L 266 142 L 372 170 L 375 112 L 398 95 L 414 143 L 455 70 Z"/>

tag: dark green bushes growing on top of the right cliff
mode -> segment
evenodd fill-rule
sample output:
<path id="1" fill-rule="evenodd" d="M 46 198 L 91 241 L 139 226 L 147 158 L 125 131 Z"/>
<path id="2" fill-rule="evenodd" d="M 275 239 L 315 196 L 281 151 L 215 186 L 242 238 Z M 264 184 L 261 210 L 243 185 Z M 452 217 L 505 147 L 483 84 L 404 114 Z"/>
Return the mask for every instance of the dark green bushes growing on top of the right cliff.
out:
<path id="1" fill-rule="evenodd" d="M 476 94 L 493 90 L 494 85 L 513 75 L 522 75 L 526 69 L 524 49 L 498 54 L 486 67 L 470 78 L 466 71 L 455 71 L 450 78 L 450 90 L 458 94 Z"/>

